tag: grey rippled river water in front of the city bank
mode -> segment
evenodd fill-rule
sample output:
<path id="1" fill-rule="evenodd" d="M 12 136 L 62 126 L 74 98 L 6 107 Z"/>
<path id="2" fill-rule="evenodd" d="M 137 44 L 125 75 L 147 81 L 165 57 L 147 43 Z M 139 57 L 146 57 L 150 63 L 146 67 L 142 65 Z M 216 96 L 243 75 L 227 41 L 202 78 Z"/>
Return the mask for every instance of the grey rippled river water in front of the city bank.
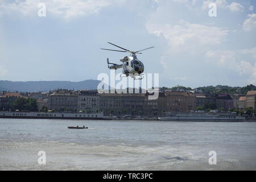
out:
<path id="1" fill-rule="evenodd" d="M 256 122 L 0 119 L 0 170 L 255 169 Z"/>

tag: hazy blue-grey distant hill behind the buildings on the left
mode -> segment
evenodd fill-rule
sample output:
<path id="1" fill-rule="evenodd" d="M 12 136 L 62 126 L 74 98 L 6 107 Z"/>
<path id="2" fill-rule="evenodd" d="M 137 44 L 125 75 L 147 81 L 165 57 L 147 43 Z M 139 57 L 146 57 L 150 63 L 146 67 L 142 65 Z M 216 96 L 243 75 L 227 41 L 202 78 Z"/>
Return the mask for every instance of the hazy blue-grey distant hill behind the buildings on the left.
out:
<path id="1" fill-rule="evenodd" d="M 48 92 L 53 89 L 97 89 L 98 80 L 72 81 L 3 81 L 0 80 L 0 91 L 9 92 Z"/>

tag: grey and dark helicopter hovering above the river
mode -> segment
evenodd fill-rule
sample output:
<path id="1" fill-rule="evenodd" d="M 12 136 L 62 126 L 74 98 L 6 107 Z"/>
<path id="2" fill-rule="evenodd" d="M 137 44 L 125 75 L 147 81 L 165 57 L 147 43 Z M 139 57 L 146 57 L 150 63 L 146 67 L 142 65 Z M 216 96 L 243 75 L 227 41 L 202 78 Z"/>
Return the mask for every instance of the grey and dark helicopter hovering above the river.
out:
<path id="1" fill-rule="evenodd" d="M 128 77 L 131 76 L 132 78 L 134 78 L 134 80 L 142 80 L 143 79 L 143 71 L 144 71 L 144 65 L 142 63 L 142 61 L 139 61 L 136 54 L 137 53 L 141 53 L 141 51 L 144 51 L 146 49 L 151 49 L 154 47 L 148 47 L 146 49 L 142 49 L 140 51 L 130 51 L 128 49 L 122 48 L 120 46 L 117 46 L 113 43 L 108 42 L 109 44 L 112 44 L 115 47 L 121 48 L 124 51 L 119 51 L 119 50 L 114 50 L 114 49 L 104 49 L 104 50 L 108 50 L 108 51 L 118 51 L 118 52 L 130 52 L 131 55 L 130 56 L 125 56 L 122 59 L 120 59 L 120 61 L 122 62 L 122 64 L 115 64 L 115 63 L 109 63 L 109 59 L 107 58 L 107 63 L 108 63 L 108 68 L 109 69 L 115 69 L 115 71 L 119 68 L 122 68 L 122 74 L 120 75 L 120 77 Z M 112 65 L 109 65 L 112 64 Z"/>

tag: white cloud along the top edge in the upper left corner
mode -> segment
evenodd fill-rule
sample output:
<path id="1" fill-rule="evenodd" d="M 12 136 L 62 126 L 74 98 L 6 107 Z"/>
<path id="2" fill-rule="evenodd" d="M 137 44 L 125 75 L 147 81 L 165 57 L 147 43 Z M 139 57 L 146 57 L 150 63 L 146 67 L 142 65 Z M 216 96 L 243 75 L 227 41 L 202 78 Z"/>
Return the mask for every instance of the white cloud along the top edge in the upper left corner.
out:
<path id="1" fill-rule="evenodd" d="M 0 5 L 1 14 L 19 13 L 22 15 L 37 15 L 39 10 L 38 4 L 42 2 L 40 0 L 25 0 L 15 1 L 10 3 L 3 1 Z M 98 13 L 103 7 L 113 5 L 115 3 L 122 3 L 118 0 L 45 0 L 47 15 L 60 15 L 63 18 L 72 18 L 76 16 L 84 16 L 89 14 Z"/>

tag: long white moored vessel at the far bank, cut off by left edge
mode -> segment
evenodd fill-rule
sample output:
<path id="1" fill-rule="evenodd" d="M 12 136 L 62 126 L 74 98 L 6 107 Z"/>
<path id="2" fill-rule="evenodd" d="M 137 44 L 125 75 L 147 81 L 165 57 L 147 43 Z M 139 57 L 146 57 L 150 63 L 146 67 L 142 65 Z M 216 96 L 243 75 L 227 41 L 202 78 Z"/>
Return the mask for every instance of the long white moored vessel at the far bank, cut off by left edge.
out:
<path id="1" fill-rule="evenodd" d="M 102 113 L 0 112 L 0 118 L 26 119 L 109 119 Z"/>

